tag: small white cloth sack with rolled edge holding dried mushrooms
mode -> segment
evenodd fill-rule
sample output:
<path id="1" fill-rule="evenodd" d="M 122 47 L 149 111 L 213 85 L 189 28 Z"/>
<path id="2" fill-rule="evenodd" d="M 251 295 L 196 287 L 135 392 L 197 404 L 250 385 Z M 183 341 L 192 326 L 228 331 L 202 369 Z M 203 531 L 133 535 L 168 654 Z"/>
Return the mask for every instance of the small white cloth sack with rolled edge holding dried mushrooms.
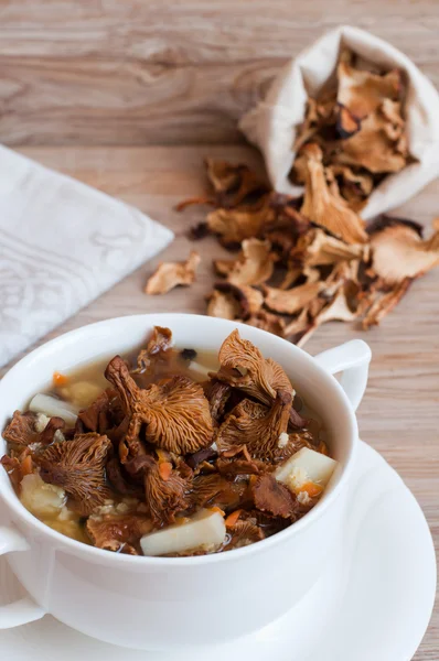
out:
<path id="1" fill-rule="evenodd" d="M 383 180 L 361 210 L 368 219 L 399 206 L 439 175 L 439 94 L 404 53 L 358 28 L 336 28 L 287 64 L 265 100 L 242 118 L 239 127 L 261 150 L 272 187 L 301 195 L 303 188 L 288 178 L 296 158 L 296 131 L 304 119 L 308 94 L 315 96 L 333 76 L 341 46 L 383 69 L 399 68 L 407 78 L 408 149 L 417 162 Z"/>

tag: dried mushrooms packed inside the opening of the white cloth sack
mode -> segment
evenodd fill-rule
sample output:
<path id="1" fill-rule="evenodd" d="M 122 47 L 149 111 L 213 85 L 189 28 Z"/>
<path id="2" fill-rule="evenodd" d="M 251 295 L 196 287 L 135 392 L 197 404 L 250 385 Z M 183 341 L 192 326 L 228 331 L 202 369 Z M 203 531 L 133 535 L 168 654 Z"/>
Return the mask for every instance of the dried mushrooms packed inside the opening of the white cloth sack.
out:
<path id="1" fill-rule="evenodd" d="M 322 152 L 324 169 L 320 176 L 331 194 L 340 195 L 351 210 L 358 212 L 384 175 L 399 172 L 411 160 L 405 97 L 401 72 L 376 71 L 353 53 L 342 51 L 333 87 L 325 89 L 321 98 L 308 100 L 296 138 L 291 180 L 307 184 L 307 150 L 314 143 Z M 310 209 L 311 205 L 308 215 Z M 347 240 L 347 236 L 342 238 Z"/>

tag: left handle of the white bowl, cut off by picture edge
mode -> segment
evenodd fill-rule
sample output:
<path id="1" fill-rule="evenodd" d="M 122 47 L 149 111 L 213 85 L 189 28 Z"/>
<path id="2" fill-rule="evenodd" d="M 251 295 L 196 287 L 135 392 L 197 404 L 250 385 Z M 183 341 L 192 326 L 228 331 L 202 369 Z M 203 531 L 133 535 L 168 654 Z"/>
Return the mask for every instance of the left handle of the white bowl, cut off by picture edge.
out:
<path id="1" fill-rule="evenodd" d="M 0 555 L 15 551 L 29 551 L 29 548 L 25 538 L 18 530 L 0 525 Z M 12 604 L 0 606 L 0 629 L 26 625 L 41 619 L 44 615 L 44 608 L 35 604 L 32 597 L 26 596 Z"/>

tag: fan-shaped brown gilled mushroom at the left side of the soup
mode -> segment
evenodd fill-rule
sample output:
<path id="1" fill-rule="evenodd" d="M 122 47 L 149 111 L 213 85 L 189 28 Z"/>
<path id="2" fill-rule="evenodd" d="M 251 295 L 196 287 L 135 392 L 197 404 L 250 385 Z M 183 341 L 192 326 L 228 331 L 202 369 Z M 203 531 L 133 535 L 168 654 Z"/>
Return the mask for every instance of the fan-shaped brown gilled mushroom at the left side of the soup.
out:
<path id="1" fill-rule="evenodd" d="M 107 436 L 79 434 L 55 443 L 39 457 L 44 481 L 63 487 L 83 514 L 89 514 L 109 496 L 105 464 L 111 448 Z"/>

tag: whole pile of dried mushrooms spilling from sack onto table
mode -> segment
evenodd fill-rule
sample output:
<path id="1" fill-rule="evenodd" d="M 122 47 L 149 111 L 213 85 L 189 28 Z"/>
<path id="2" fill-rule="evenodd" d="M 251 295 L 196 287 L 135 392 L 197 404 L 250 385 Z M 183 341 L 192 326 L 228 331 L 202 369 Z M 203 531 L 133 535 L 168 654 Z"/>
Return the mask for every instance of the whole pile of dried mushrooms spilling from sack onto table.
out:
<path id="1" fill-rule="evenodd" d="M 404 120 L 405 85 L 398 71 L 367 71 L 341 55 L 336 86 L 309 98 L 296 141 L 291 178 L 302 197 L 270 189 L 246 165 L 206 161 L 213 193 L 193 239 L 216 235 L 234 259 L 215 260 L 221 278 L 207 314 L 243 321 L 303 345 L 321 324 L 358 319 L 368 328 L 395 307 L 414 279 L 439 263 L 439 224 L 422 239 L 413 220 L 382 216 L 366 226 L 358 212 L 389 173 L 410 161 Z M 185 284 L 194 253 L 172 264 Z M 163 272 L 167 266 L 161 266 Z M 168 283 L 148 293 L 169 291 Z"/>

